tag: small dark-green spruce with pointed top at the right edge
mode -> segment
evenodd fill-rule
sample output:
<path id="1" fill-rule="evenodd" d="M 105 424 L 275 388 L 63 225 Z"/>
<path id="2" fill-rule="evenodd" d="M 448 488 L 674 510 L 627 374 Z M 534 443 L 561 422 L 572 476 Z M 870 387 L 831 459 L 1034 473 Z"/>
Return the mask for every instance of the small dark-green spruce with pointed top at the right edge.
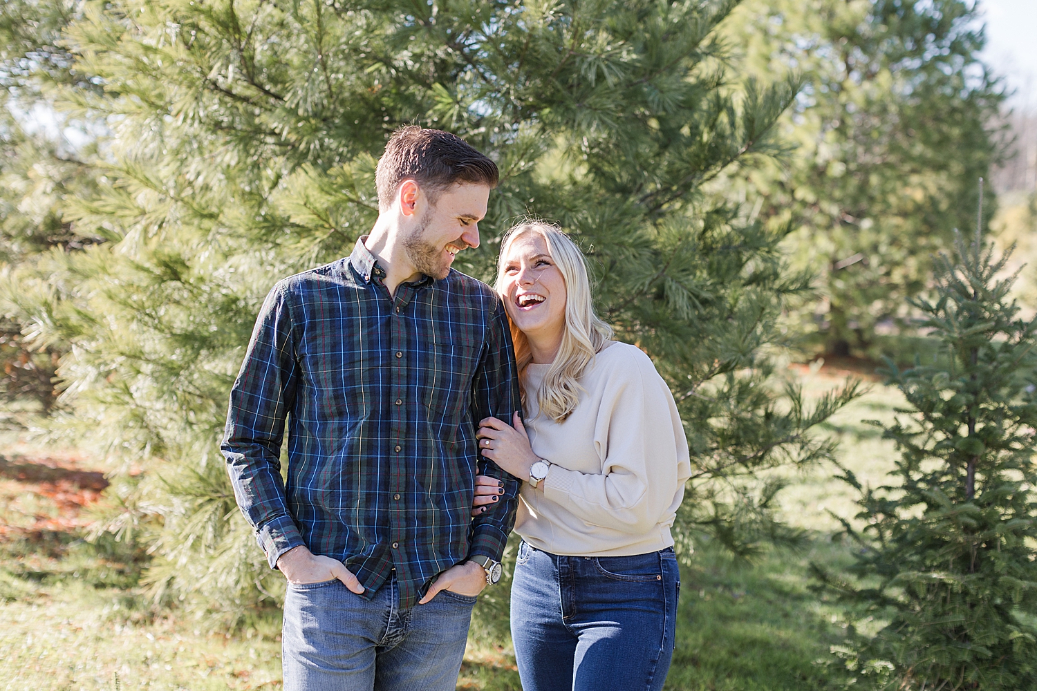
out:
<path id="1" fill-rule="evenodd" d="M 850 573 L 874 586 L 815 568 L 889 622 L 842 653 L 898 689 L 1037 686 L 1037 320 L 1009 298 L 1009 254 L 977 232 L 937 258 L 935 295 L 915 306 L 938 362 L 890 363 L 910 405 L 885 430 L 900 458 L 889 485 L 863 491 L 863 530 L 845 523 L 863 548 Z"/>

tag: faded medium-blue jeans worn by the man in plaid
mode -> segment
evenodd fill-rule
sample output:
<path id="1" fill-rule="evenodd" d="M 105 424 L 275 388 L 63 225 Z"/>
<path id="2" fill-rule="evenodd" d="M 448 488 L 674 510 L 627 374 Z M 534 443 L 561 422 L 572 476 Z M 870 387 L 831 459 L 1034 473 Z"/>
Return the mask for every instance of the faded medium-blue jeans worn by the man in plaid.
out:
<path id="1" fill-rule="evenodd" d="M 285 691 L 453 691 L 475 598 L 441 591 L 399 608 L 396 577 L 371 600 L 339 580 L 288 584 Z"/>

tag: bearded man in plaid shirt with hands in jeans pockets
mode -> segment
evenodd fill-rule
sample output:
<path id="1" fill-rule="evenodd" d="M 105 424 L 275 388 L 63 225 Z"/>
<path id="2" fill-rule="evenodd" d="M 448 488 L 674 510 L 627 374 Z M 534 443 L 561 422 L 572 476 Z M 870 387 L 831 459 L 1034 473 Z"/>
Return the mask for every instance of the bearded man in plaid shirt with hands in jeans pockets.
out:
<path id="1" fill-rule="evenodd" d="M 475 596 L 500 574 L 517 481 L 474 520 L 475 423 L 521 409 L 507 318 L 450 268 L 479 244 L 497 166 L 408 126 L 349 257 L 278 283 L 230 397 L 237 503 L 288 581 L 284 687 L 453 689 Z M 287 480 L 279 457 L 288 421 Z"/>

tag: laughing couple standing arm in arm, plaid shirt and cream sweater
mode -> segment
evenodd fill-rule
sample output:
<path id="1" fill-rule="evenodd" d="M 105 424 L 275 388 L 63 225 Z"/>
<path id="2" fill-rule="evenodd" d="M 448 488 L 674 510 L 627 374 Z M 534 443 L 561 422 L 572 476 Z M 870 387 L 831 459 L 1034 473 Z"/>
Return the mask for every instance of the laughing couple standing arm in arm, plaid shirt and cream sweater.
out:
<path id="1" fill-rule="evenodd" d="M 370 234 L 260 310 L 222 449 L 288 581 L 289 691 L 453 689 L 512 525 L 523 688 L 663 687 L 683 429 L 558 228 L 513 228 L 496 290 L 450 268 L 497 181 L 457 137 L 397 131 Z"/>

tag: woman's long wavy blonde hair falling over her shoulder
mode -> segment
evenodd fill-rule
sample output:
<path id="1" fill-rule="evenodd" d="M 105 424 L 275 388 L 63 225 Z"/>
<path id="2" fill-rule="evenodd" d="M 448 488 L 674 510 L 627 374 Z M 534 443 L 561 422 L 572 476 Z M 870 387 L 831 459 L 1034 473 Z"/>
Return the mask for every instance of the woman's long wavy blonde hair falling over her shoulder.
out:
<path id="1" fill-rule="evenodd" d="M 565 332 L 558 348 L 555 362 L 548 368 L 548 373 L 536 393 L 536 401 L 540 412 L 556 423 L 563 422 L 577 407 L 580 394 L 578 383 L 584 370 L 594 358 L 594 355 L 605 347 L 612 337 L 612 327 L 594 314 L 594 305 L 590 291 L 590 279 L 587 276 L 587 259 L 576 242 L 562 232 L 558 226 L 543 221 L 524 221 L 505 234 L 501 240 L 501 256 L 497 263 L 497 292 L 504 295 L 505 275 L 504 262 L 511 243 L 528 234 L 537 234 L 548 243 L 548 252 L 565 281 Z M 518 364 L 518 374 L 526 378 L 526 366 L 533 359 L 526 335 L 511 323 L 511 340 L 515 346 L 515 358 Z M 526 390 L 522 387 L 523 405 L 526 405 Z"/>

